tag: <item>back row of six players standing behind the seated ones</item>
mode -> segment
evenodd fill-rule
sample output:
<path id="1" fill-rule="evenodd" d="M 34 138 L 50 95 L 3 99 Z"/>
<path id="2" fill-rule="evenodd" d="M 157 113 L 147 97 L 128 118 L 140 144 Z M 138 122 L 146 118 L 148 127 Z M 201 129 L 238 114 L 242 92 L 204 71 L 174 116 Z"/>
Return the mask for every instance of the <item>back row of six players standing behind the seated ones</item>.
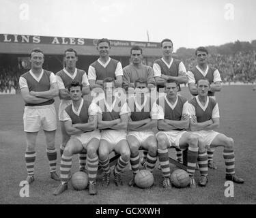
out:
<path id="1" fill-rule="evenodd" d="M 114 78 L 116 87 L 121 87 L 122 84 L 124 84 L 124 87 L 134 87 L 135 80 L 143 78 L 147 81 L 147 87 L 149 89 L 152 89 L 155 85 L 159 89 L 165 84 L 165 81 L 169 79 L 180 84 L 182 82 L 187 82 L 189 78 L 190 91 L 194 95 L 197 95 L 198 91 L 195 89 L 195 84 L 199 78 L 203 76 L 203 78 L 208 78 L 212 82 L 209 86 L 209 91 L 214 93 L 214 91 L 219 91 L 221 89 L 221 80 L 218 70 L 212 68 L 209 69 L 207 65 L 207 50 L 204 48 L 197 50 L 196 55 L 198 57 L 199 65 L 195 68 L 195 72 L 194 70 L 188 72 L 187 78 L 186 68 L 183 63 L 171 57 L 173 51 L 171 40 L 163 40 L 161 46 L 163 57 L 156 61 L 153 67 L 154 70 L 141 63 L 142 50 L 138 47 L 132 48 L 131 50 L 132 64 L 122 69 L 122 65 L 119 61 L 115 61 L 109 57 L 109 40 L 99 40 L 97 49 L 99 50 L 100 58 L 90 65 L 88 78 L 83 70 L 76 69 L 76 61 L 78 61 L 78 59 L 76 52 L 72 49 L 66 50 L 66 68 L 58 72 L 56 76 L 53 73 L 42 69 L 44 55 L 41 50 L 33 50 L 31 52 L 31 70 L 20 76 L 20 92 L 25 100 L 25 113 L 23 119 L 24 130 L 27 136 L 25 159 L 28 171 L 27 181 L 29 183 L 32 183 L 34 180 L 33 166 L 36 156 L 35 140 L 41 125 L 46 135 L 47 155 L 50 163 L 51 178 L 59 180 L 59 176 L 57 176 L 55 172 L 57 152 L 54 145 L 54 139 L 57 122 L 53 106 L 53 97 L 56 97 L 59 93 L 59 97 L 61 98 L 59 120 L 61 121 L 62 155 L 63 149 L 70 139 L 70 133 L 68 134 L 66 130 L 64 110 L 72 102 L 70 92 L 67 89 L 68 84 L 72 80 L 77 80 L 83 84 L 83 94 L 88 94 L 90 89 L 102 87 L 103 80 L 106 77 Z M 203 67 L 205 71 L 203 71 Z M 78 127 L 75 128 L 78 129 Z M 148 155 L 150 155 L 150 153 Z M 83 170 L 85 167 L 85 151 L 82 151 L 80 154 L 80 162 L 81 169 Z"/>

